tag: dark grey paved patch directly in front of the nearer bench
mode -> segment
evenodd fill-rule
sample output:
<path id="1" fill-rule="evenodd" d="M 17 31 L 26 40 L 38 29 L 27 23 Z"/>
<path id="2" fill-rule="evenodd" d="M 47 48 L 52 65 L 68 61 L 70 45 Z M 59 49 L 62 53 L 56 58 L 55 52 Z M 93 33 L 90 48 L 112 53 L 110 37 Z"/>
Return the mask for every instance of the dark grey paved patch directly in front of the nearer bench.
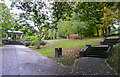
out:
<path id="1" fill-rule="evenodd" d="M 102 58 L 82 57 L 79 58 L 74 68 L 84 75 L 115 75 L 114 71 L 108 68 Z"/>

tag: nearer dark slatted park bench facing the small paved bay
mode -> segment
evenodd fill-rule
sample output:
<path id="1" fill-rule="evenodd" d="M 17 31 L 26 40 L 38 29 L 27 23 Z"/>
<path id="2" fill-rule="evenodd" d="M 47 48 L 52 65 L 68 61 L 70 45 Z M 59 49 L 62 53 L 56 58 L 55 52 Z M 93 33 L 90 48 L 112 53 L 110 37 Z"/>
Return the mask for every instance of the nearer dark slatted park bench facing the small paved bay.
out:
<path id="1" fill-rule="evenodd" d="M 106 46 L 91 46 L 86 45 L 86 48 L 83 51 L 80 51 L 79 55 L 82 57 L 98 57 L 98 58 L 107 58 L 112 45 Z"/>

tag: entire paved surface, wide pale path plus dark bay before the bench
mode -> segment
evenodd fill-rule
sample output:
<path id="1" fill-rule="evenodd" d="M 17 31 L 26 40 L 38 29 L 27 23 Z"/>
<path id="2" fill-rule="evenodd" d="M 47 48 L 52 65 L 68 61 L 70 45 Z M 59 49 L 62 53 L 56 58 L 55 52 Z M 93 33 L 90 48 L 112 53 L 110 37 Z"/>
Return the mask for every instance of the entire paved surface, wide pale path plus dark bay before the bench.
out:
<path id="1" fill-rule="evenodd" d="M 2 75 L 114 75 L 100 58 L 83 57 L 68 68 L 23 45 L 2 47 L 0 71 Z"/>

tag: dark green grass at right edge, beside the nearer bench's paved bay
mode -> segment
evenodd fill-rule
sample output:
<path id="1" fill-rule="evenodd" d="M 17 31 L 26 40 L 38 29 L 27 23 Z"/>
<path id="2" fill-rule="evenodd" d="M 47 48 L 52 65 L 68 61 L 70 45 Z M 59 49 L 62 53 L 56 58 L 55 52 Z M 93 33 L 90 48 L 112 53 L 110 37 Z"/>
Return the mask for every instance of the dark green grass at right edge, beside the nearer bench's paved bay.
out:
<path id="1" fill-rule="evenodd" d="M 114 47 L 112 56 L 107 59 L 108 63 L 120 73 L 120 43 Z"/>

